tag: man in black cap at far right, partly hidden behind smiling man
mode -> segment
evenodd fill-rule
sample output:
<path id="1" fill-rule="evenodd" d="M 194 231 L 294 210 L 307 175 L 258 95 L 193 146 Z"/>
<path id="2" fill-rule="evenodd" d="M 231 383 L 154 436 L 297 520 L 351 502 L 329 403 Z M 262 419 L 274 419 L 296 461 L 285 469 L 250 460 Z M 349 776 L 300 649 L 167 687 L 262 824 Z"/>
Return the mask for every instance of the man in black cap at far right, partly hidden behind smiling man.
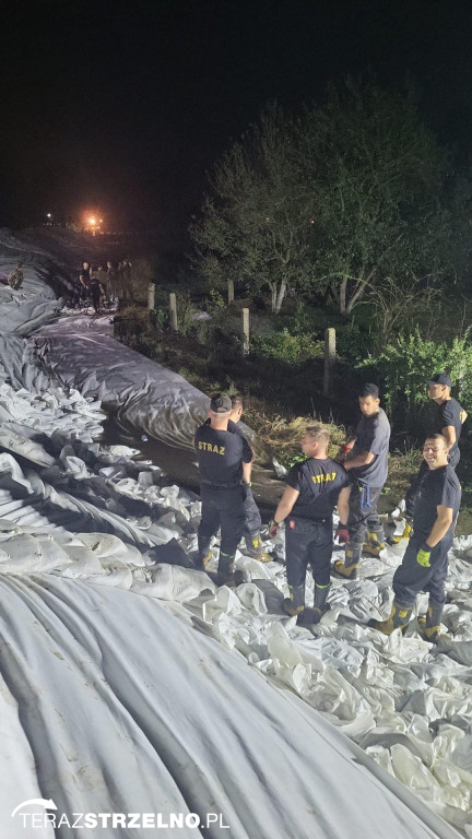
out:
<path id="1" fill-rule="evenodd" d="M 437 404 L 436 422 L 433 426 L 433 430 L 437 434 L 442 434 L 446 437 L 449 449 L 449 465 L 456 469 L 460 461 L 459 451 L 459 438 L 462 430 L 462 425 L 467 420 L 468 413 L 462 405 L 459 404 L 457 399 L 453 399 L 450 394 L 452 382 L 447 373 L 437 373 L 433 376 L 428 383 L 428 397 Z M 416 500 L 416 496 L 420 492 L 420 487 L 424 476 L 427 474 L 428 468 L 425 461 L 422 462 L 417 475 L 413 478 L 405 496 L 405 519 L 403 533 L 401 536 L 393 539 L 394 543 L 400 542 L 401 539 L 409 539 L 412 530 L 413 510 Z"/>

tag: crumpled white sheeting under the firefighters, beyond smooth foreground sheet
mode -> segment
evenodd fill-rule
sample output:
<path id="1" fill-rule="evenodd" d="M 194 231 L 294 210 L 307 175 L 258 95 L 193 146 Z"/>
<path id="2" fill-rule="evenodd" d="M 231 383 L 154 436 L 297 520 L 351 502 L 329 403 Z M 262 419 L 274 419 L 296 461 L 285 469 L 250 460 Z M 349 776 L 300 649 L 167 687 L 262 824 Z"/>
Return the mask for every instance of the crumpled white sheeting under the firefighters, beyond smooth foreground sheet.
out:
<path id="1" fill-rule="evenodd" d="M 58 403 L 67 403 L 68 395 L 60 389 L 56 398 Z M 69 398 L 70 410 L 82 404 L 73 392 Z M 32 406 L 36 401 L 37 394 L 32 394 Z M 84 403 L 92 413 L 99 412 L 96 404 L 91 407 Z M 82 429 L 86 438 L 87 423 L 94 420 L 79 411 L 74 415 L 75 434 L 80 436 Z M 50 422 L 44 410 L 32 412 L 27 420 L 38 422 L 40 430 L 42 416 L 45 423 Z M 69 411 L 63 416 L 69 422 Z M 61 412 L 57 409 L 57 429 L 60 426 Z M 56 438 L 52 434 L 50 439 Z M 451 556 L 451 603 L 445 611 L 448 633 L 437 648 L 418 638 L 414 624 L 405 638 L 394 634 L 388 639 L 357 623 L 388 611 L 388 587 L 401 547 L 389 550 L 382 560 L 365 560 L 361 580 L 333 583 L 332 611 L 314 636 L 298 628 L 281 610 L 286 583 L 280 563 L 261 565 L 241 554 L 237 564 L 248 582 L 236 591 L 215 591 L 206 575 L 197 571 L 167 564 L 155 566 L 149 553 L 151 545 L 176 539 L 187 553 L 196 547 L 198 500 L 176 486 L 160 485 L 158 470 L 152 464 L 134 463 L 132 451 L 125 447 L 106 450 L 96 442 L 81 441 L 74 446 L 82 457 L 74 453 L 72 445 L 66 445 L 55 458 L 55 466 L 42 475 L 33 463 L 31 468 L 24 465 L 23 471 L 14 454 L 1 456 L 3 576 L 23 586 L 28 584 L 32 575 L 46 574 L 48 579 L 54 575 L 52 580 L 60 575 L 74 584 L 94 582 L 110 591 L 125 590 L 130 598 L 133 593 L 146 594 L 166 601 L 172 608 L 182 604 L 178 615 L 191 615 L 199 627 L 224 647 L 243 653 L 274 684 L 297 693 L 437 813 L 469 829 L 472 565 L 468 552 L 472 539 L 459 540 Z M 45 457 L 42 445 L 34 442 L 36 461 L 42 460 L 42 451 Z M 45 475 L 49 475 L 50 483 Z M 10 482 L 8 488 L 5 478 Z M 74 497 L 74 488 L 78 492 L 96 480 L 95 504 Z M 14 497 L 17 486 L 23 487 L 25 497 Z M 111 486 L 118 496 L 146 505 L 149 515 L 133 521 L 132 517 L 99 508 L 101 492 L 105 496 L 105 489 Z M 71 532 L 68 519 L 58 523 L 51 517 L 47 506 L 50 498 L 60 509 L 66 499 L 75 512 L 82 512 L 75 532 Z M 92 522 L 87 519 L 90 510 Z M 104 522 L 111 533 L 93 529 L 94 523 L 103 528 Z M 83 532 L 83 523 L 92 530 Z M 215 569 L 215 557 L 210 567 Z M 243 722 L 240 725 L 244 728 Z M 322 771 L 320 766 L 317 776 Z"/>

